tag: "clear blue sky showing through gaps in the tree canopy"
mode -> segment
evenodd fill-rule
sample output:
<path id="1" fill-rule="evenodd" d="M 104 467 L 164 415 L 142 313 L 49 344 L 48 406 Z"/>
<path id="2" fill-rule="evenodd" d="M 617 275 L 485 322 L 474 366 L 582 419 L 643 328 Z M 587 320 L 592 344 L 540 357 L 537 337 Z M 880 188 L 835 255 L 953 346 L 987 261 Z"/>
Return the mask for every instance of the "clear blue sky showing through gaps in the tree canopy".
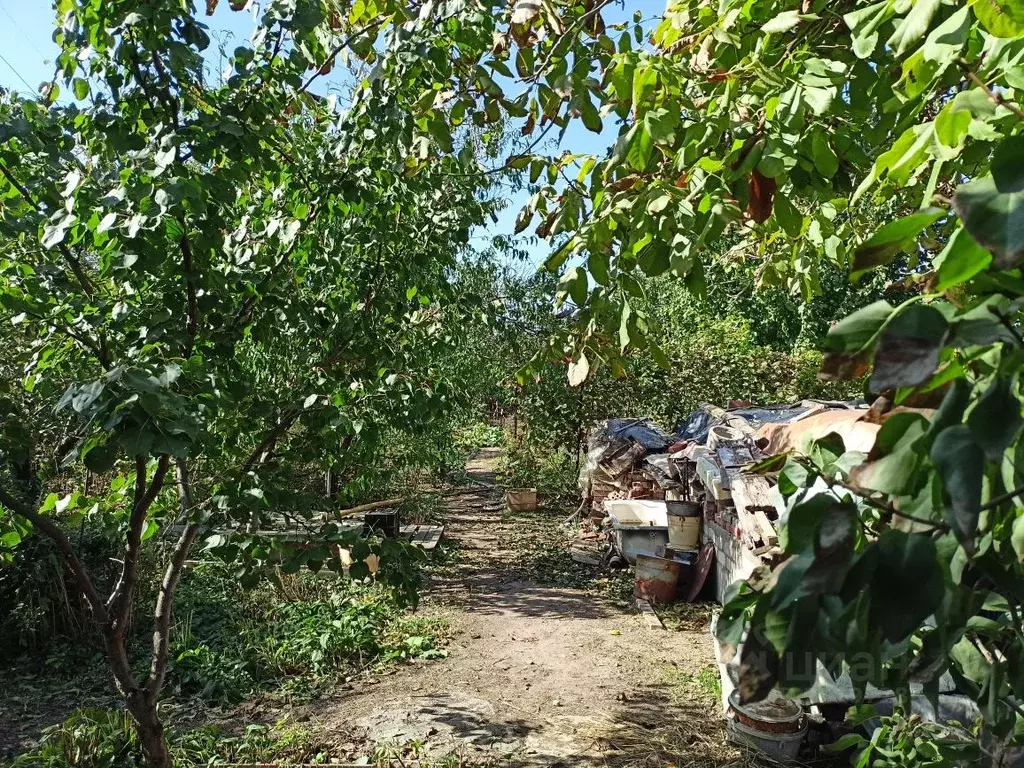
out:
<path id="1" fill-rule="evenodd" d="M 662 13 L 664 0 L 638 0 L 629 2 L 621 0 L 609 5 L 604 11 L 607 24 L 631 19 L 634 11 L 640 10 L 645 18 L 651 18 Z M 23 93 L 33 93 L 41 83 L 48 82 L 53 76 L 53 61 L 57 56 L 57 46 L 53 42 L 53 9 L 45 0 L 0 0 L 0 86 Z M 227 50 L 232 50 L 249 39 L 255 25 L 252 9 L 231 11 L 226 0 L 218 4 L 213 16 L 203 19 L 208 24 L 214 43 L 211 46 L 211 66 L 216 67 L 217 40 L 225 36 Z M 646 25 L 649 28 L 649 25 Z M 342 72 L 337 68 L 336 72 Z M 314 90 L 344 90 L 340 75 L 332 74 L 322 78 Z M 60 100 L 66 100 L 68 94 L 62 93 Z M 606 125 L 600 134 L 591 133 L 579 121 L 573 121 L 565 132 L 560 150 L 571 153 L 603 153 L 614 139 L 614 128 Z M 552 135 L 555 132 L 552 131 Z M 545 152 L 553 152 L 550 144 L 542 147 Z M 516 215 L 525 203 L 525 191 L 508 190 L 508 206 L 499 216 L 497 224 L 474 233 L 478 245 L 495 234 L 511 234 Z M 548 255 L 547 243 L 537 238 L 528 237 L 526 230 L 520 238 L 521 247 L 528 252 L 526 262 L 519 265 L 519 270 L 528 272 L 536 269 Z"/>

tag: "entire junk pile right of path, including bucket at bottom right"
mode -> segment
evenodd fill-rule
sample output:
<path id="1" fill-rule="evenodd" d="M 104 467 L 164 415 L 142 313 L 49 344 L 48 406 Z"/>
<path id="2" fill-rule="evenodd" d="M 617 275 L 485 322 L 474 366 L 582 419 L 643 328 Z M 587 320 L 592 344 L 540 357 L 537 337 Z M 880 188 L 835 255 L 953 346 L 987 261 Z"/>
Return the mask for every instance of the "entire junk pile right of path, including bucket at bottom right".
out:
<path id="1" fill-rule="evenodd" d="M 880 428 L 863 402 L 730 406 L 702 403 L 675 433 L 650 419 L 610 419 L 588 435 L 580 473 L 584 515 L 573 545 L 582 556 L 573 557 L 632 567 L 644 613 L 675 601 L 725 602 L 731 585 L 760 565 L 781 562 L 777 531 L 785 507 L 773 480 L 750 473 L 751 464 L 833 432 L 847 450 L 867 453 Z M 797 700 L 777 694 L 740 705 L 735 691 L 740 654 L 727 660 L 717 643 L 716 651 L 730 738 L 775 761 L 812 753 L 814 734 L 837 715 L 841 720 L 856 699 L 848 676 L 833 679 L 820 670 L 815 685 Z M 939 702 L 945 711 L 932 718 L 970 722 L 969 713 L 961 711 L 965 697 L 954 687 L 944 676 Z M 867 698 L 883 707 L 891 696 L 891 691 L 867 691 Z"/>

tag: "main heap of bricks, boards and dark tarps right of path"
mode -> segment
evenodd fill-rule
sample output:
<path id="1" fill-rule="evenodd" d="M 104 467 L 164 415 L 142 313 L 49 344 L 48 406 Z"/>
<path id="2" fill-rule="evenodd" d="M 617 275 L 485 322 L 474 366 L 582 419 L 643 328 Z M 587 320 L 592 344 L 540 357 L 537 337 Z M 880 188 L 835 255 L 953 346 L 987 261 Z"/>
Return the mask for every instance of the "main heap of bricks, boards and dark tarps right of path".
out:
<path id="1" fill-rule="evenodd" d="M 816 431 L 855 433 L 842 425 L 855 425 L 865 409 L 818 400 L 729 410 L 701 403 L 675 434 L 650 419 L 599 423 L 580 472 L 587 520 L 578 559 L 632 566 L 637 597 L 651 603 L 692 601 L 706 584 L 708 596 L 723 601 L 729 585 L 782 555 L 782 500 L 767 477 L 745 468 Z M 852 436 L 869 445 L 873 431 Z"/>

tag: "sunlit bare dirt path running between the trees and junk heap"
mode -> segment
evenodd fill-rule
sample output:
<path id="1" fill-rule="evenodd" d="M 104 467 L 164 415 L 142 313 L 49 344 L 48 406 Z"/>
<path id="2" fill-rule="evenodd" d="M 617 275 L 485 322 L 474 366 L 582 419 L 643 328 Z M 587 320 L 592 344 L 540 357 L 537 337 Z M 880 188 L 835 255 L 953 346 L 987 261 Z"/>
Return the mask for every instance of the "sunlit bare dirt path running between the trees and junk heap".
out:
<path id="1" fill-rule="evenodd" d="M 329 732 L 404 745 L 413 757 L 449 755 L 454 765 L 604 764 L 597 729 L 643 727 L 685 707 L 680 681 L 707 679 L 711 637 L 650 630 L 621 601 L 524 575 L 531 519 L 504 514 L 498 458 L 482 452 L 467 467 L 472 484 L 450 496 L 445 538 L 458 558 L 436 569 L 421 608 L 451 623 L 450 656 L 322 702 L 316 719 Z M 550 527 L 551 513 L 534 515 Z M 715 722 L 707 694 L 699 711 Z"/>

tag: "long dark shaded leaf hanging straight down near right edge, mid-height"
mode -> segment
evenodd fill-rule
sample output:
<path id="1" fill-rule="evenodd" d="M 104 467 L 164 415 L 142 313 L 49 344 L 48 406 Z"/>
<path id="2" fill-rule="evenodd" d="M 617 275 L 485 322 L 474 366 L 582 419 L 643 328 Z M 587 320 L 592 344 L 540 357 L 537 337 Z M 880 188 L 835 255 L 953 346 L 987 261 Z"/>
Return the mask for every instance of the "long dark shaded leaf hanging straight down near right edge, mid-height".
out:
<path id="1" fill-rule="evenodd" d="M 943 430 L 932 444 L 932 464 L 942 478 L 949 500 L 946 521 L 968 553 L 975 550 L 974 537 L 981 512 L 981 484 L 985 454 L 971 428 L 959 424 Z"/>

